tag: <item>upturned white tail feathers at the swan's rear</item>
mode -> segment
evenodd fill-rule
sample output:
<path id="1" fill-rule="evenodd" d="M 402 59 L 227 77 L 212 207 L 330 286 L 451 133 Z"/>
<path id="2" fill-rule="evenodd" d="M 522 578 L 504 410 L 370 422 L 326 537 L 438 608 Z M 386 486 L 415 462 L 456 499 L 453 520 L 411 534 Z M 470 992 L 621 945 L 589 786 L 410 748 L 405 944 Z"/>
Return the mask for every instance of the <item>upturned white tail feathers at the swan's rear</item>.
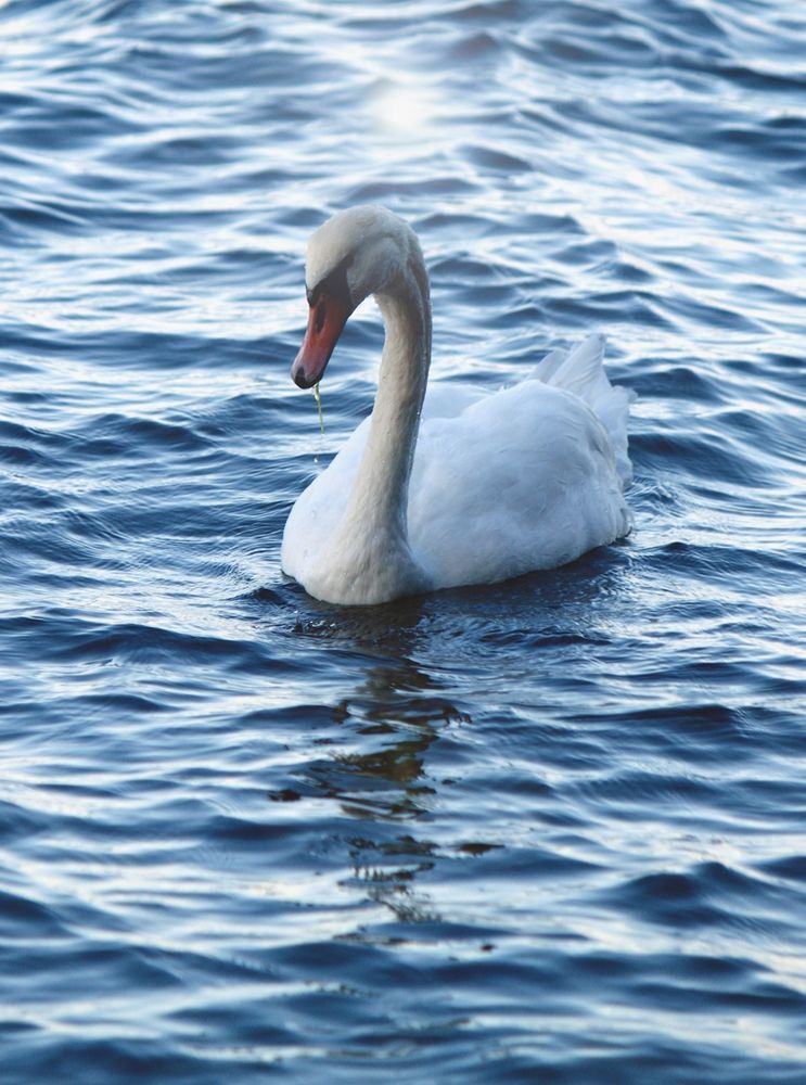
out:
<path id="1" fill-rule="evenodd" d="M 546 384 L 565 388 L 586 403 L 610 434 L 622 485 L 632 478 L 627 451 L 629 405 L 635 392 L 613 385 L 604 371 L 604 336 L 588 335 L 571 350 L 552 350 L 537 367 L 535 376 Z"/>

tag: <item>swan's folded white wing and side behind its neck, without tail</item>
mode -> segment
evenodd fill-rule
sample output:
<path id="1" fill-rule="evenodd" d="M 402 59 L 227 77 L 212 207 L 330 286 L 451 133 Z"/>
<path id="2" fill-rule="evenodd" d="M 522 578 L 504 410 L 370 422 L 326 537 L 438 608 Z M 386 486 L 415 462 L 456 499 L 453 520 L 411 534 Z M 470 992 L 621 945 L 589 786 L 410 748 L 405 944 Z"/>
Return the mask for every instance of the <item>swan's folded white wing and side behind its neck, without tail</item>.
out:
<path id="1" fill-rule="evenodd" d="M 628 529 L 610 439 L 577 396 L 526 381 L 423 424 L 409 535 L 440 587 L 553 567 Z"/>

